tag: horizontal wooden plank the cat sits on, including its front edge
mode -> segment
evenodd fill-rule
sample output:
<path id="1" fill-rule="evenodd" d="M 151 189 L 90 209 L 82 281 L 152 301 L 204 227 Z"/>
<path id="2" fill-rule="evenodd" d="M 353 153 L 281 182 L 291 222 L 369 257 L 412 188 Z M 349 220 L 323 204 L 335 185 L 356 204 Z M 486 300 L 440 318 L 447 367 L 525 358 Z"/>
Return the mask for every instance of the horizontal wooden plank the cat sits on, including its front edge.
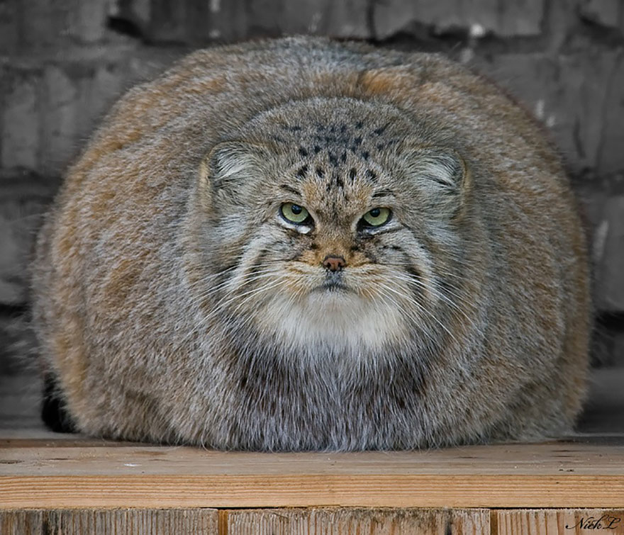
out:
<path id="1" fill-rule="evenodd" d="M 0 441 L 0 508 L 323 505 L 624 507 L 624 437 L 355 454 Z"/>

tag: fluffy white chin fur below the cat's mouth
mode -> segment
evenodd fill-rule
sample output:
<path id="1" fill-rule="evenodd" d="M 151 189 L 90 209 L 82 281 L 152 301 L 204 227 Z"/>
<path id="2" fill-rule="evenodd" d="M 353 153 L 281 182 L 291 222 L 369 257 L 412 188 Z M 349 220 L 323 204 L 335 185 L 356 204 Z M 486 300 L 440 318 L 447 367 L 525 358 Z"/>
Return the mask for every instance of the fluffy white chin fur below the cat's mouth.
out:
<path id="1" fill-rule="evenodd" d="M 324 347 L 345 355 L 382 349 L 408 336 L 396 307 L 375 303 L 347 286 L 318 286 L 296 302 L 277 296 L 259 311 L 256 323 L 287 346 Z"/>

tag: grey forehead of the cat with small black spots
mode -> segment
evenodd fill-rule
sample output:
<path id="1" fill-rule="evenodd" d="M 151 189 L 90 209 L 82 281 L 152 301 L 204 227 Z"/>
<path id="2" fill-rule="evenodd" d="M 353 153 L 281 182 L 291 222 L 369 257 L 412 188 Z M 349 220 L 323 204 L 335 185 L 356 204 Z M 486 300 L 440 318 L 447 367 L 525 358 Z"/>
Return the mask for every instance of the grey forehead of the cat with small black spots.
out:
<path id="1" fill-rule="evenodd" d="M 383 188 L 384 162 L 413 125 L 391 106 L 318 98 L 267 111 L 250 129 L 282 155 L 280 179 L 304 196 L 361 204 Z"/>

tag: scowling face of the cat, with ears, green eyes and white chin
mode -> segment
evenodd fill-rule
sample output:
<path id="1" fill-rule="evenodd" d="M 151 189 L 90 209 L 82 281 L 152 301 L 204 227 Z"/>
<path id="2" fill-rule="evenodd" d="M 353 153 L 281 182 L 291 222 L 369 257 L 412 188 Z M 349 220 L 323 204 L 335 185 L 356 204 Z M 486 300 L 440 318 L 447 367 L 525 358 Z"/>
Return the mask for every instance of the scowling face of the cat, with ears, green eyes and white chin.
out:
<path id="1" fill-rule="evenodd" d="M 331 106 L 262 118 L 208 157 L 229 266 L 216 307 L 292 347 L 357 354 L 426 337 L 448 299 L 437 249 L 455 240 L 462 161 L 419 145 L 398 118 Z"/>

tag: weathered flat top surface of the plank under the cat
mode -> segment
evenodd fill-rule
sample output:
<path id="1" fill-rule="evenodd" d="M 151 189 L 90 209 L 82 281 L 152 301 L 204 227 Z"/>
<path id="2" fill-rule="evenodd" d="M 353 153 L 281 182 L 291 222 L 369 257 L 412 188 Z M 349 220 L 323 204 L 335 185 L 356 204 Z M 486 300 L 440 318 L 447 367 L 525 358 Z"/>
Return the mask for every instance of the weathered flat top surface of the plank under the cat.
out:
<path id="1" fill-rule="evenodd" d="M 282 454 L 56 437 L 69 438 L 0 439 L 0 475 L 624 476 L 624 434 L 423 451 Z"/>

